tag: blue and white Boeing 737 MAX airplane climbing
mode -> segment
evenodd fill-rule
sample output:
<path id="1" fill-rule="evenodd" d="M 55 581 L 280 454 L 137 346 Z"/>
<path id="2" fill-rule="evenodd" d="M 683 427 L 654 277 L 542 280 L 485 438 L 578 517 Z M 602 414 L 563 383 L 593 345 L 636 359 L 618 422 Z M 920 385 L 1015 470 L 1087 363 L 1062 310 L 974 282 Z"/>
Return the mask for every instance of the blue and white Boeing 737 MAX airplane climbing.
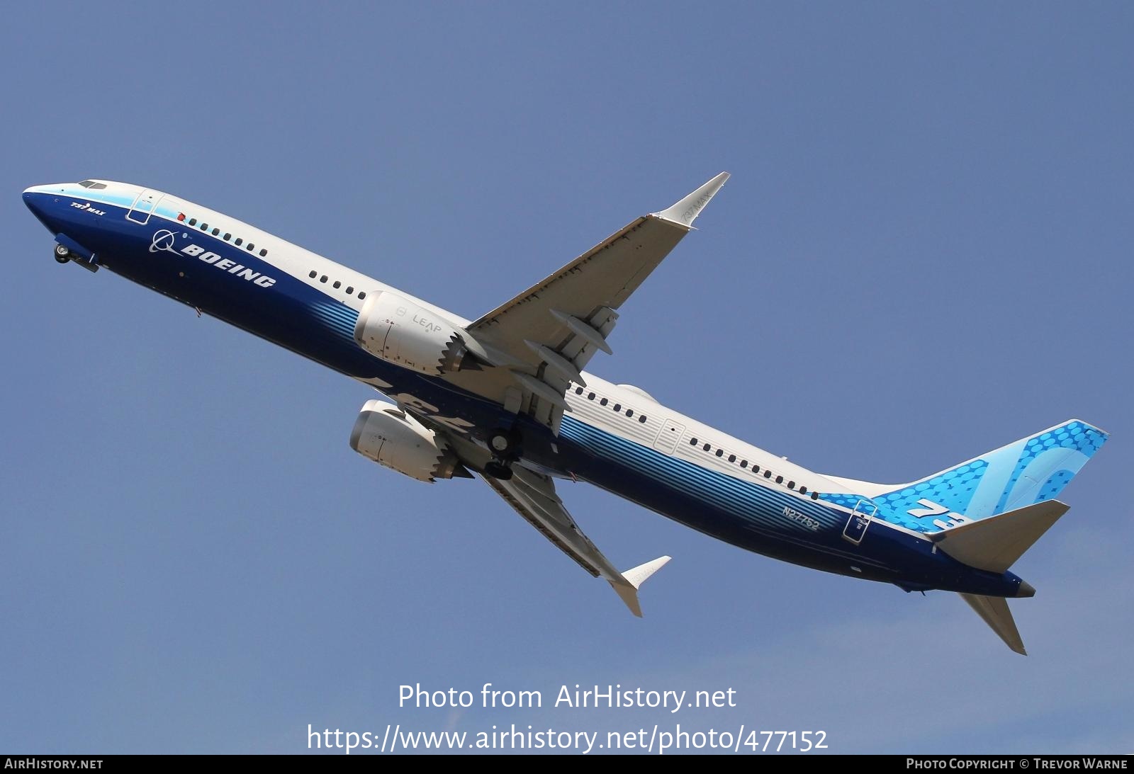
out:
<path id="1" fill-rule="evenodd" d="M 350 432 L 359 454 L 422 482 L 480 476 L 635 615 L 669 556 L 619 571 L 556 491 L 589 482 L 748 551 L 909 592 L 955 592 L 1025 654 L 1009 571 L 1067 511 L 1056 500 L 1107 433 L 1070 419 L 906 484 L 822 475 L 631 384 L 584 371 L 618 309 L 728 179 L 635 219 L 476 320 L 230 215 L 111 180 L 34 186 L 53 255 L 100 267 L 383 393 Z"/>

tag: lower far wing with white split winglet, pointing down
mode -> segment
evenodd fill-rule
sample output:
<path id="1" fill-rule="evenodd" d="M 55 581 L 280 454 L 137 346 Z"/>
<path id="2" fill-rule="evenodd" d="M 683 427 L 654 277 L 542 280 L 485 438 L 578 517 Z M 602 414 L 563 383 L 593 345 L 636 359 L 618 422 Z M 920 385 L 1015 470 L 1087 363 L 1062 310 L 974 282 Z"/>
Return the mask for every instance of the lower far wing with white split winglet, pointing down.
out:
<path id="1" fill-rule="evenodd" d="M 556 484 L 551 478 L 519 465 L 513 466 L 513 477 L 509 480 L 482 477 L 525 521 L 539 529 L 584 570 L 596 578 L 601 576 L 631 612 L 642 616 L 638 587 L 660 570 L 669 561 L 669 556 L 659 556 L 626 572 L 619 572 L 575 524 L 562 500 L 556 494 Z"/>

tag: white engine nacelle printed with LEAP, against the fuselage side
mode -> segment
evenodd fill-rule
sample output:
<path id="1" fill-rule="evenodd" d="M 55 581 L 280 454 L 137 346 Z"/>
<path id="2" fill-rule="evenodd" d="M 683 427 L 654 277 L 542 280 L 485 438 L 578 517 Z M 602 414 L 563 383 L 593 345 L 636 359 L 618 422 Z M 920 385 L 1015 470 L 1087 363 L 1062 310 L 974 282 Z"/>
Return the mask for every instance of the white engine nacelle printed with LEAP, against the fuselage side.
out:
<path id="1" fill-rule="evenodd" d="M 468 354 L 456 325 L 384 290 L 363 305 L 355 341 L 375 357 L 430 376 L 459 371 Z"/>

